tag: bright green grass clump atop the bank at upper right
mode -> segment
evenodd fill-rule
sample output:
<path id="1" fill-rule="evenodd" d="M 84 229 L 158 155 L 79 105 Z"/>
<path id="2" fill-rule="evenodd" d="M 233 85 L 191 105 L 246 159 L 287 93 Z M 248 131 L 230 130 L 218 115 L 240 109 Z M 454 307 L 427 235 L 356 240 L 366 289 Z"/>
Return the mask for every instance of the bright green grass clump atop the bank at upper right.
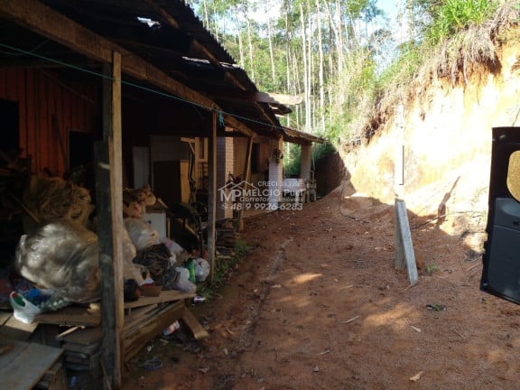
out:
<path id="1" fill-rule="evenodd" d="M 426 38 L 433 45 L 442 42 L 471 24 L 484 23 L 497 10 L 493 0 L 445 0 L 433 3 L 430 8 L 432 23 Z"/>

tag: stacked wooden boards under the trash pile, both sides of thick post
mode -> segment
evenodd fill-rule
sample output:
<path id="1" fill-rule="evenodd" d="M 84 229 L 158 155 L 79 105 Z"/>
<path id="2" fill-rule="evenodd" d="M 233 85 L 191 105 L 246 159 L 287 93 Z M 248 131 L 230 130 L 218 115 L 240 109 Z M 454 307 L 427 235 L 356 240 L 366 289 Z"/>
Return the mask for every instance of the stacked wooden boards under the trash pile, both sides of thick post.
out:
<path id="1" fill-rule="evenodd" d="M 134 357 L 152 339 L 161 335 L 172 322 L 181 320 L 191 330 L 195 339 L 205 339 L 209 334 L 186 308 L 185 300 L 194 293 L 177 290 L 162 291 L 158 296 L 141 296 L 135 302 L 125 302 L 125 324 L 121 334 L 125 362 Z M 46 327 L 42 333 L 45 344 L 56 344 L 58 356 L 42 369 L 37 389 L 60 390 L 67 388 L 66 374 L 86 378 L 85 381 L 102 384 L 102 328 L 98 305 L 73 305 L 59 311 L 48 311 L 35 317 L 35 322 L 25 325 L 15 320 L 11 313 L 0 317 L 0 336 L 13 337 L 16 327 L 19 338 L 27 339 L 38 326 Z M 52 328 L 57 325 L 58 327 Z M 29 331 L 25 331 L 25 328 Z M 62 330 L 59 334 L 58 329 Z M 51 336 L 51 330 L 57 331 Z M 26 336 L 27 335 L 27 336 Z M 41 346 L 32 343 L 31 346 Z M 34 348 L 34 347 L 33 347 Z M 46 347 L 51 348 L 51 347 Z M 51 366 L 52 365 L 52 366 Z M 44 375 L 43 375 L 44 374 Z M 16 376 L 17 373 L 14 373 Z M 65 385 L 65 387 L 64 387 Z"/>

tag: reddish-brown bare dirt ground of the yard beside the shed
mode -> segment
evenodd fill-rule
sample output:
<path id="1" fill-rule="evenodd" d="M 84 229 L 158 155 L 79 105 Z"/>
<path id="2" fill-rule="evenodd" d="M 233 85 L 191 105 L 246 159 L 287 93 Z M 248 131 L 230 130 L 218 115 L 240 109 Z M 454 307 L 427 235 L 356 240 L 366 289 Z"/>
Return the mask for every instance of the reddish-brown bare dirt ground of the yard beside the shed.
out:
<path id="1" fill-rule="evenodd" d="M 410 215 L 419 282 L 395 269 L 395 209 L 341 189 L 246 222 L 253 246 L 222 298 L 192 311 L 209 331 L 153 340 L 125 390 L 520 389 L 520 307 L 485 292 L 484 227 L 448 235 Z M 473 229 L 473 231 L 471 231 Z M 158 357 L 163 367 L 144 369 Z"/>

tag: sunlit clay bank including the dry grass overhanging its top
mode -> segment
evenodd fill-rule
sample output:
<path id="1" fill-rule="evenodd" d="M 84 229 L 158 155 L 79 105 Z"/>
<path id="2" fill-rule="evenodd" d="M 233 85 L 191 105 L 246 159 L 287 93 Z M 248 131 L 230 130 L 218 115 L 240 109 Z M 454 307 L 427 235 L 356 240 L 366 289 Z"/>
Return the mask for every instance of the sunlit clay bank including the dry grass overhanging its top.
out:
<path id="1" fill-rule="evenodd" d="M 406 85 L 385 92 L 376 133 L 339 145 L 357 190 L 386 202 L 397 192 L 422 214 L 450 190 L 452 212 L 487 209 L 491 128 L 519 125 L 515 3 L 437 45 Z"/>

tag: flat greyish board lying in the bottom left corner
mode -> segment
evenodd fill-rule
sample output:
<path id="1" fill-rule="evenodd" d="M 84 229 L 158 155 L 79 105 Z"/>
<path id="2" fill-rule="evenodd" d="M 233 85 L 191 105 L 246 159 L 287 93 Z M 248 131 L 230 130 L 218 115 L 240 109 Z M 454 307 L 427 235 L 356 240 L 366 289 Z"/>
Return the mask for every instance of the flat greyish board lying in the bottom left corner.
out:
<path id="1" fill-rule="evenodd" d="M 30 390 L 59 359 L 63 350 L 42 344 L 9 340 L 13 348 L 0 356 L 2 387 Z"/>

